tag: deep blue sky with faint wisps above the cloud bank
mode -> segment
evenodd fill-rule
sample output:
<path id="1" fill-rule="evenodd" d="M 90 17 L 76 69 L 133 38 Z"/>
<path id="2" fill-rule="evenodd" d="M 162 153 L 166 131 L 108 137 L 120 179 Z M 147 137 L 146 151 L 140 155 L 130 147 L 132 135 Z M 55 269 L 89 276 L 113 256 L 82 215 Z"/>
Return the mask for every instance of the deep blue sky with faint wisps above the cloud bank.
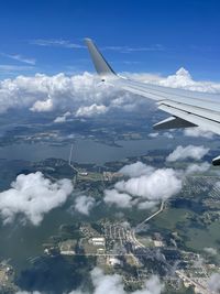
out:
<path id="1" fill-rule="evenodd" d="M 218 0 L 2 0 L 0 77 L 94 70 L 92 37 L 118 72 L 220 80 Z"/>

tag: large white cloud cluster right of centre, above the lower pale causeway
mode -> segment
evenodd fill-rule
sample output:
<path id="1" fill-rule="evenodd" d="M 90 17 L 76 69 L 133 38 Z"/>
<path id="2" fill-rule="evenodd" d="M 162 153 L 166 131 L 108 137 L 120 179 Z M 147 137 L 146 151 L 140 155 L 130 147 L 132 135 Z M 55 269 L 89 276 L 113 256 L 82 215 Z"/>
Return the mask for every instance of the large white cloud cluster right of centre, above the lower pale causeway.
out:
<path id="1" fill-rule="evenodd" d="M 122 167 L 120 173 L 129 176 L 114 184 L 113 189 L 105 190 L 105 202 L 121 208 L 138 206 L 151 209 L 160 200 L 169 198 L 182 189 L 182 173 L 173 168 L 154 168 L 142 162 Z"/>

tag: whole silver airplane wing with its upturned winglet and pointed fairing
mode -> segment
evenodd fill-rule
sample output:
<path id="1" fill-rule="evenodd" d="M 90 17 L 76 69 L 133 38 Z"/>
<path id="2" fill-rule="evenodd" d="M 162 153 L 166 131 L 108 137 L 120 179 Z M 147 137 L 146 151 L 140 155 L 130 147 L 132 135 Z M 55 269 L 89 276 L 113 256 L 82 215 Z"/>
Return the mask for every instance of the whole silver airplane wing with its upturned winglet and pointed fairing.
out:
<path id="1" fill-rule="evenodd" d="M 158 109 L 170 115 L 167 119 L 154 124 L 154 129 L 201 127 L 220 134 L 220 96 L 163 87 L 121 77 L 114 73 L 90 39 L 86 39 L 85 42 L 102 81 L 109 80 L 112 85 L 127 91 L 153 99 Z M 213 159 L 212 163 L 220 165 L 220 156 Z"/>

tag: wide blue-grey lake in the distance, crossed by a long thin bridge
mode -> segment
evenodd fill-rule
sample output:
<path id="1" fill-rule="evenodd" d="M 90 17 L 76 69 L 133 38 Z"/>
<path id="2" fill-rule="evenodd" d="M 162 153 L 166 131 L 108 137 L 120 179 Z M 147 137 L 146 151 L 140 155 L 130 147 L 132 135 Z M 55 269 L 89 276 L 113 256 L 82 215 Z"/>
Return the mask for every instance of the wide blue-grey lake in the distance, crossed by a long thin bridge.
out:
<path id="1" fill-rule="evenodd" d="M 191 143 L 191 138 L 166 139 L 163 137 L 145 140 L 117 141 L 112 146 L 87 139 L 78 139 L 74 144 L 73 161 L 78 163 L 103 164 L 109 161 L 123 160 L 128 156 L 145 155 L 152 150 L 175 149 L 177 145 Z M 200 144 L 199 139 L 194 139 L 194 144 Z M 209 143 L 207 142 L 209 145 Z M 207 145 L 206 144 L 206 145 Z M 211 142 L 212 146 L 215 144 Z M 68 160 L 69 145 L 50 145 L 47 143 L 20 143 L 0 148 L 0 159 L 41 161 L 48 157 Z"/>

